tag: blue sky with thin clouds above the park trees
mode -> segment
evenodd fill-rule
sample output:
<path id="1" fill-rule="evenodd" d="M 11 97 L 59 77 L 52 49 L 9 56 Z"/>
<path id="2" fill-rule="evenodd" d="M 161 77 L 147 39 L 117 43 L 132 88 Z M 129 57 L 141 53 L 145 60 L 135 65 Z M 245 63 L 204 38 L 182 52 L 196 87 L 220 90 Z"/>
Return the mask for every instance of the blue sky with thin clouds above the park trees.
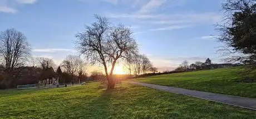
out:
<path id="1" fill-rule="evenodd" d="M 76 54 L 75 35 L 95 21 L 94 14 L 130 27 L 141 54 L 160 71 L 184 60 L 221 63 L 214 24 L 222 19 L 222 0 L 0 0 L 0 31 L 26 35 L 32 55 L 58 65 Z"/>

